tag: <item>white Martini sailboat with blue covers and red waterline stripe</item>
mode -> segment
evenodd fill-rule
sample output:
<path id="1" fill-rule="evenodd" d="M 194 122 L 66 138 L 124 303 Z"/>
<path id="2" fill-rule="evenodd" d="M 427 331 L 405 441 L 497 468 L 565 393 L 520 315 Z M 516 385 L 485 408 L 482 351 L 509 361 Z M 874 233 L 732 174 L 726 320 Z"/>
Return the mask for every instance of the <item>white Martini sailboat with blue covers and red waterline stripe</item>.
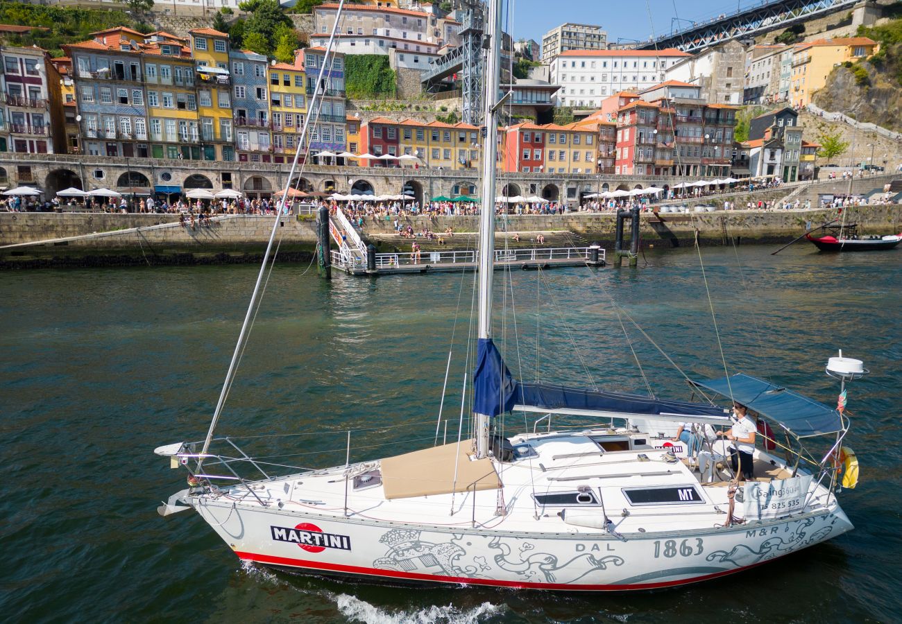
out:
<path id="1" fill-rule="evenodd" d="M 699 401 L 511 375 L 492 338 L 497 0 L 488 23 L 472 437 L 322 470 L 286 470 L 215 438 L 258 280 L 207 437 L 155 450 L 188 473 L 189 487 L 161 515 L 194 509 L 240 560 L 295 573 L 574 592 L 697 583 L 851 530 L 837 498 L 842 482 L 854 486 L 842 406 L 745 374 L 694 381 L 712 398 Z M 840 353 L 827 372 L 844 398 L 845 383 L 866 370 Z M 734 425 L 713 398 L 773 425 L 761 429 L 750 481 L 732 473 L 730 443 L 710 435 Z M 496 423 L 511 412 L 533 415 L 532 430 L 504 436 Z M 589 425 L 555 430 L 559 415 Z M 681 424 L 688 442 L 670 437 Z M 230 450 L 214 453 L 216 442 Z"/>

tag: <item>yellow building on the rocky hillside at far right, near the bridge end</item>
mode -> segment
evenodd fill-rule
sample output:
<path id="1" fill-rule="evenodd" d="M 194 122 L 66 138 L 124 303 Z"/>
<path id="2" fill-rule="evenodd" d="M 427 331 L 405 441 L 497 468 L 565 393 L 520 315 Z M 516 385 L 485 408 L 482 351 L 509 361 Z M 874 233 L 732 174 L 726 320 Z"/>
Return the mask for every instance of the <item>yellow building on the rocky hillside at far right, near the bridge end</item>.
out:
<path id="1" fill-rule="evenodd" d="M 833 68 L 841 63 L 866 59 L 878 50 L 877 41 L 867 37 L 818 39 L 796 46 L 792 55 L 789 101 L 807 106 L 811 96 L 827 83 Z"/>

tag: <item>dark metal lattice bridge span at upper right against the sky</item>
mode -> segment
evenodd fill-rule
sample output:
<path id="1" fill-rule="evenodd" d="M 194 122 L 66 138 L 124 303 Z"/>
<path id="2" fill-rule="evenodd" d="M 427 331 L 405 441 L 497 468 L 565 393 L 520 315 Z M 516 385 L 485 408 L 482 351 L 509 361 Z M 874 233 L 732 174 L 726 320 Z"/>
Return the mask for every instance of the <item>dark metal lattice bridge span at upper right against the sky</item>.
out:
<path id="1" fill-rule="evenodd" d="M 752 38 L 765 32 L 788 28 L 814 17 L 848 11 L 861 0 L 771 0 L 758 6 L 723 14 L 683 30 L 670 32 L 637 46 L 638 50 L 677 48 L 695 53 L 732 39 Z M 685 20 L 679 20 L 683 22 Z"/>

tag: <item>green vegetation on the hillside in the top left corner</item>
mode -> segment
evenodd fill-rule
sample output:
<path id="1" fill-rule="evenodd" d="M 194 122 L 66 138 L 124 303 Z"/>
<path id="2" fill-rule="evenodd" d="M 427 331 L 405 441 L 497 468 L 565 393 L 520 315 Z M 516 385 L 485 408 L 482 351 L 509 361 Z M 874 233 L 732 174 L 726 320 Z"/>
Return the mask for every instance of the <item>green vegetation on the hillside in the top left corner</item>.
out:
<path id="1" fill-rule="evenodd" d="M 135 20 L 124 11 L 82 9 L 75 6 L 28 5 L 10 0 L 0 1 L 0 23 L 24 26 L 42 26 L 49 31 L 35 31 L 23 35 L 5 37 L 9 45 L 32 46 L 48 50 L 53 56 L 61 56 L 64 43 L 87 41 L 91 32 L 116 26 L 127 26 L 138 32 L 151 32 L 150 24 Z"/>

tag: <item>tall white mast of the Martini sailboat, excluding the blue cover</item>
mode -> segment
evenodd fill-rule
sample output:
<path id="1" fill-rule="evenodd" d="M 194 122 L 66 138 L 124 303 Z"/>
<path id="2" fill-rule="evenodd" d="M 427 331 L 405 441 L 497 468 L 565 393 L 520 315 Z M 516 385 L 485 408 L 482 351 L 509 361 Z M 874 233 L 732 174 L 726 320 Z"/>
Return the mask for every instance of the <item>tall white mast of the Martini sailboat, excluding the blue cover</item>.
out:
<path id="1" fill-rule="evenodd" d="M 489 48 L 483 98 L 483 184 L 479 211 L 479 325 L 478 337 L 492 338 L 492 273 L 495 256 L 495 166 L 498 157 L 497 106 L 501 67 L 501 0 L 489 0 Z M 489 454 L 487 414 L 475 414 L 476 457 Z"/>

